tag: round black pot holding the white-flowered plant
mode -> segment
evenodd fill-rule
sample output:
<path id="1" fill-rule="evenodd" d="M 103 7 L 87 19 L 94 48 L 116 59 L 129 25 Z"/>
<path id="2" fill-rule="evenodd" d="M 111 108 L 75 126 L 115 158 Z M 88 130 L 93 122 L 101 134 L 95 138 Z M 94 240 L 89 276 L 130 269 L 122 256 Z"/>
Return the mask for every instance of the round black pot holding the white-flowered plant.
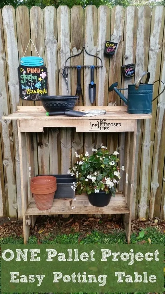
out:
<path id="1" fill-rule="evenodd" d="M 106 194 L 104 191 L 100 191 L 99 193 L 91 193 L 88 195 L 90 204 L 97 207 L 107 206 L 110 203 L 111 197 L 111 192 Z"/>

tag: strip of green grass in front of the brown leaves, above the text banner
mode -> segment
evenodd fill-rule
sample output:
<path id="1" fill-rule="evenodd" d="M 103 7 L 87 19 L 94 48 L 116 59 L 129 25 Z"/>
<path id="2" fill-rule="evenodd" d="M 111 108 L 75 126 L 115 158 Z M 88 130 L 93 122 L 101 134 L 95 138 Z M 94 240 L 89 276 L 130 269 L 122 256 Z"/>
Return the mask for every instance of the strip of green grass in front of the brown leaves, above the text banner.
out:
<path id="1" fill-rule="evenodd" d="M 52 235 L 51 235 L 52 237 Z M 126 236 L 124 232 L 117 232 L 114 230 L 114 233 L 112 234 L 104 234 L 98 231 L 92 231 L 91 234 L 87 234 L 83 237 L 82 233 L 73 233 L 73 234 L 59 234 L 56 236 L 53 236 L 53 240 L 50 240 L 49 236 L 43 238 L 43 240 L 40 240 L 41 243 L 53 243 L 53 244 L 91 244 L 91 243 L 100 243 L 100 244 L 112 244 L 112 243 L 118 243 L 118 244 L 125 244 L 127 243 Z M 52 238 L 51 238 L 52 239 Z M 160 233 L 159 230 L 153 227 L 146 228 L 145 230 L 142 229 L 139 234 L 133 233 L 131 235 L 131 243 L 144 243 L 146 241 L 153 244 L 164 244 L 165 245 L 165 234 Z M 29 244 L 36 244 L 37 238 L 36 236 L 31 236 L 28 240 Z M 0 245 L 1 244 L 23 244 L 23 238 L 22 237 L 8 237 L 8 238 L 1 238 L 0 239 Z M 1 286 L 0 286 L 0 293 L 1 293 Z M 165 292 L 164 292 L 165 293 Z M 18 294 L 18 293 L 14 293 Z M 22 293 L 23 294 L 23 293 Z M 32 293 L 31 293 L 32 294 Z M 37 293 L 33 293 L 37 294 Z M 55 294 L 61 294 L 61 293 L 55 293 Z M 70 294 L 87 294 L 83 292 L 78 293 L 70 293 Z M 96 293 L 88 293 L 88 294 L 96 294 Z M 103 293 L 102 293 L 103 294 Z M 110 293 L 107 293 L 110 294 Z M 112 293 L 117 294 L 117 293 Z M 124 294 L 124 293 L 118 293 L 118 294 Z M 131 293 L 128 293 L 131 294 Z M 135 293 L 135 294 L 142 294 L 142 293 Z"/>

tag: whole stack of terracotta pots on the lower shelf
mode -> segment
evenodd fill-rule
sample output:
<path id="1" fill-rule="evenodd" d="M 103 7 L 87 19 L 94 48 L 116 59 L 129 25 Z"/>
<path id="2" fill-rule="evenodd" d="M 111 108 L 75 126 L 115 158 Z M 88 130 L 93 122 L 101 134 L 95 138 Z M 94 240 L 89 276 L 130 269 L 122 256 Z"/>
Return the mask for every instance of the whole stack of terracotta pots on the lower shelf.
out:
<path id="1" fill-rule="evenodd" d="M 57 190 L 56 178 L 53 176 L 37 176 L 31 179 L 31 193 L 39 210 L 48 210 L 53 205 L 53 198 Z"/>

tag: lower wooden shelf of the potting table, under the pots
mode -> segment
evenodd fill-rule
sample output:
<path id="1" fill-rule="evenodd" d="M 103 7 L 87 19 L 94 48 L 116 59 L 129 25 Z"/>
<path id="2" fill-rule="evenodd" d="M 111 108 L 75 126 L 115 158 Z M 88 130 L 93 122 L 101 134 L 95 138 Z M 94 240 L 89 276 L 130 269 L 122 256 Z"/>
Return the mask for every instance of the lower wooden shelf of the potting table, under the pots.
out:
<path id="1" fill-rule="evenodd" d="M 75 195 L 75 198 L 76 200 L 66 198 L 54 199 L 53 206 L 48 210 L 39 210 L 36 208 L 36 203 L 32 199 L 25 215 L 129 213 L 129 208 L 122 193 L 112 197 L 109 205 L 105 207 L 92 206 L 86 194 Z"/>

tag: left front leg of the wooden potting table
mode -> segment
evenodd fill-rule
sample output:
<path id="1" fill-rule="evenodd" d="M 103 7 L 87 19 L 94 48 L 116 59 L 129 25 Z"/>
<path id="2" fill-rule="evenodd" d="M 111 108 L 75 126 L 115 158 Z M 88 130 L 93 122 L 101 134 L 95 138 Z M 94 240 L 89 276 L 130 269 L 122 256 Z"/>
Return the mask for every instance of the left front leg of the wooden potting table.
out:
<path id="1" fill-rule="evenodd" d="M 19 156 L 20 156 L 20 170 L 21 170 L 21 198 L 22 198 L 22 219 L 23 219 L 23 238 L 24 244 L 27 243 L 29 238 L 30 225 L 27 224 L 25 212 L 28 207 L 28 169 L 27 169 L 27 154 L 26 154 L 26 134 L 21 133 L 19 121 L 18 125 L 18 143 L 19 143 Z"/>

